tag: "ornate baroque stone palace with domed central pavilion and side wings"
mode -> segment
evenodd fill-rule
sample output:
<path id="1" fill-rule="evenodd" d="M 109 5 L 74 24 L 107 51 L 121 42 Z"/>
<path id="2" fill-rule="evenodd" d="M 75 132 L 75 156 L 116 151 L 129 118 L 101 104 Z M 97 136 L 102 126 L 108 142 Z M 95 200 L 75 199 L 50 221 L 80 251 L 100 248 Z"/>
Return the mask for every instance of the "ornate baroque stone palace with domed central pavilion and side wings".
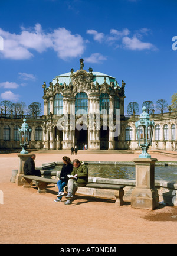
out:
<path id="1" fill-rule="evenodd" d="M 139 115 L 124 116 L 125 83 L 119 86 L 107 74 L 80 69 L 56 76 L 48 88 L 44 82 L 44 115 L 0 114 L 1 150 L 19 149 L 18 128 L 23 119 L 32 129 L 30 148 L 78 150 L 136 150 L 135 122 Z M 150 114 L 154 120 L 152 150 L 177 150 L 177 111 Z M 142 129 L 139 128 L 141 137 Z M 0 151 L 1 153 L 1 151 Z"/>

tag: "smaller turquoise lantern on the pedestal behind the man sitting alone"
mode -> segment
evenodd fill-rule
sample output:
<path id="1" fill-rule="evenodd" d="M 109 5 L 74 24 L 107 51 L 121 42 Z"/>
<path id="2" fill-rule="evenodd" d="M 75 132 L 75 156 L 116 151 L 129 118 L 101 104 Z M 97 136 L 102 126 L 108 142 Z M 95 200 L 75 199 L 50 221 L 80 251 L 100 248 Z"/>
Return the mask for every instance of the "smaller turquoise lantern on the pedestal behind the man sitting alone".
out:
<path id="1" fill-rule="evenodd" d="M 28 154 L 27 146 L 30 144 L 31 140 L 31 129 L 26 123 L 27 120 L 24 119 L 23 121 L 24 123 L 21 125 L 21 129 L 18 128 L 19 142 L 22 147 L 22 151 L 20 152 L 20 154 Z"/>

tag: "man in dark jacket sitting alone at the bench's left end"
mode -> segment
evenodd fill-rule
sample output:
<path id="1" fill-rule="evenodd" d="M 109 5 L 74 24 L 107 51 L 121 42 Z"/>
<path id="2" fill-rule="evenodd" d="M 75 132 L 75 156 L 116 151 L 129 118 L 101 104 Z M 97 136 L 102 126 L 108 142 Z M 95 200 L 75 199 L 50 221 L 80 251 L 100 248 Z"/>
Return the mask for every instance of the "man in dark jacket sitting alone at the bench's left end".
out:
<path id="1" fill-rule="evenodd" d="M 35 154 L 32 154 L 24 163 L 24 174 L 25 175 L 35 175 L 41 177 L 40 170 L 35 170 Z"/>

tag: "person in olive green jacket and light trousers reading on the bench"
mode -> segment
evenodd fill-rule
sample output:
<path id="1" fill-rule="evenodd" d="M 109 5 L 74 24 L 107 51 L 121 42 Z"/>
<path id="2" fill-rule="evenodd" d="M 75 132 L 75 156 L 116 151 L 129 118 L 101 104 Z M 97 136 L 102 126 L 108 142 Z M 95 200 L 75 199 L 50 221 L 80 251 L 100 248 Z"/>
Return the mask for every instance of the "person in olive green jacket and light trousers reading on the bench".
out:
<path id="1" fill-rule="evenodd" d="M 73 192 L 77 187 L 84 187 L 88 183 L 89 179 L 89 171 L 85 164 L 80 162 L 78 159 L 73 161 L 73 171 L 71 173 L 71 177 L 68 180 L 68 195 L 66 198 L 68 199 L 65 202 L 65 205 L 70 205 L 71 199 L 73 198 Z"/>

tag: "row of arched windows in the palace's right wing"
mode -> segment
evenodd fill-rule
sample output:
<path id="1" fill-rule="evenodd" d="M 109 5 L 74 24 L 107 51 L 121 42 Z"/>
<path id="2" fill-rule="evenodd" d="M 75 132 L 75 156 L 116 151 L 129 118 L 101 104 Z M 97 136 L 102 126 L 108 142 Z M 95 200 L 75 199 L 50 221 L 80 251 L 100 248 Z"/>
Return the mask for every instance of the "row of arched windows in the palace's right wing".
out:
<path id="1" fill-rule="evenodd" d="M 142 127 L 138 128 L 138 132 L 139 132 L 139 137 L 143 138 L 142 137 L 142 135 L 143 135 L 143 128 Z M 149 130 L 149 132 L 150 132 L 150 130 Z M 133 129 L 132 129 L 131 126 L 126 127 L 125 136 L 126 136 L 126 141 L 133 140 Z M 175 140 L 175 139 L 176 139 L 176 137 L 175 137 L 175 124 L 172 124 L 171 125 L 171 140 Z M 136 140 L 137 140 L 137 134 L 136 134 Z M 155 125 L 155 140 L 157 140 L 157 141 L 162 140 L 160 125 Z M 169 140 L 169 128 L 168 128 L 167 124 L 163 125 L 163 140 Z"/>

